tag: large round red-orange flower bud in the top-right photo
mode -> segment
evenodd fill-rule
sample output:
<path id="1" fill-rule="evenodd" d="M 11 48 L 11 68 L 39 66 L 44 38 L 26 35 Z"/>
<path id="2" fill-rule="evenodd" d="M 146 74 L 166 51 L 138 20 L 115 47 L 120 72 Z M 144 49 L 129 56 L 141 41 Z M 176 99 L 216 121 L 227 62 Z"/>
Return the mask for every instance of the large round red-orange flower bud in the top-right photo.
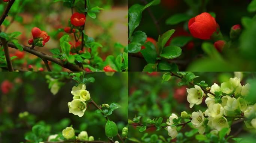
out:
<path id="1" fill-rule="evenodd" d="M 201 15 L 191 18 L 188 23 L 188 28 L 195 38 L 210 39 L 210 36 L 216 32 L 217 23 L 209 13 L 202 13 Z"/>

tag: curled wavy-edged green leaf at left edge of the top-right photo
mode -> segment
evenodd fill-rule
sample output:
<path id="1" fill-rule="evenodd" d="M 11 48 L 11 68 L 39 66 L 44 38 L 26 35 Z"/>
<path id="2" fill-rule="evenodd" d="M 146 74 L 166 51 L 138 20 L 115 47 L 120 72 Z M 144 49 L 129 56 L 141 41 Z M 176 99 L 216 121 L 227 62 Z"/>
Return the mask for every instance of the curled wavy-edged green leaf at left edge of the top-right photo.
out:
<path id="1" fill-rule="evenodd" d="M 136 31 L 130 39 L 130 44 L 128 45 L 129 53 L 138 53 L 141 50 L 141 46 L 145 43 L 147 39 L 146 33 L 142 31 Z"/>

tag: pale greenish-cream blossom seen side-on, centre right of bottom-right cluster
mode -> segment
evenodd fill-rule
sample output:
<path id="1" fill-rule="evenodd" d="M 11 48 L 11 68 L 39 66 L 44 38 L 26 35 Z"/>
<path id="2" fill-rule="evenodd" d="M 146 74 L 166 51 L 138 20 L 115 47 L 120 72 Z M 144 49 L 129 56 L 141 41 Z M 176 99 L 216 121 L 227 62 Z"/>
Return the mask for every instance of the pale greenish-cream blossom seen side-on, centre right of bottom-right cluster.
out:
<path id="1" fill-rule="evenodd" d="M 226 105 L 224 106 L 224 115 L 234 114 L 234 111 L 238 108 L 239 102 L 237 101 L 237 99 L 231 98 L 230 96 L 226 96 L 226 98 L 228 100 L 226 102 Z"/>

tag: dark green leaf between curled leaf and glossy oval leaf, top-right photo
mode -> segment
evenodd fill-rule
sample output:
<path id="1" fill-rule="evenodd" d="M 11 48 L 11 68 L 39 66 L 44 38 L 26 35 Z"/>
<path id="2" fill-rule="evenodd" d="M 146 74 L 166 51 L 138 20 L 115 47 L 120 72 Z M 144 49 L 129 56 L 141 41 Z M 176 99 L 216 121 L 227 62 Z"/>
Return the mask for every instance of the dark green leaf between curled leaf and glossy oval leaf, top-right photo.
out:
<path id="1" fill-rule="evenodd" d="M 144 44 L 145 49 L 141 50 L 141 54 L 147 61 L 147 63 L 156 63 L 156 48 L 152 42 L 147 42 Z"/>

